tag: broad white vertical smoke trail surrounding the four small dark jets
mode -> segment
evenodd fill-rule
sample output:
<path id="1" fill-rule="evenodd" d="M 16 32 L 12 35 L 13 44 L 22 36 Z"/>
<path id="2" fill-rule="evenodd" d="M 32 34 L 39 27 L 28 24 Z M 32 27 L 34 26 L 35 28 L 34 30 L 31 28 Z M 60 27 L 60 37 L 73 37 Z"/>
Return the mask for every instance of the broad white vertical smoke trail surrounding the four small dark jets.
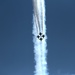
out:
<path id="1" fill-rule="evenodd" d="M 34 43 L 34 56 L 35 56 L 35 75 L 48 75 L 47 72 L 47 43 L 46 43 L 46 25 L 45 25 L 45 1 L 33 0 L 33 43 Z M 45 35 L 45 38 L 40 41 L 37 38 L 39 32 Z"/>

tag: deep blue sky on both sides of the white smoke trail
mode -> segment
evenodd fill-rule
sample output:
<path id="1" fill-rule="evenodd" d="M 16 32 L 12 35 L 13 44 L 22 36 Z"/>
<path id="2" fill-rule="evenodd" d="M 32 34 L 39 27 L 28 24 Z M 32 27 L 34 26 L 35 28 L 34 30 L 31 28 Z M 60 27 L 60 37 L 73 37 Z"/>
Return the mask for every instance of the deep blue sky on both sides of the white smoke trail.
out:
<path id="1" fill-rule="evenodd" d="M 75 75 L 75 0 L 46 0 L 49 75 Z M 0 0 L 0 75 L 34 75 L 32 0 Z"/>

